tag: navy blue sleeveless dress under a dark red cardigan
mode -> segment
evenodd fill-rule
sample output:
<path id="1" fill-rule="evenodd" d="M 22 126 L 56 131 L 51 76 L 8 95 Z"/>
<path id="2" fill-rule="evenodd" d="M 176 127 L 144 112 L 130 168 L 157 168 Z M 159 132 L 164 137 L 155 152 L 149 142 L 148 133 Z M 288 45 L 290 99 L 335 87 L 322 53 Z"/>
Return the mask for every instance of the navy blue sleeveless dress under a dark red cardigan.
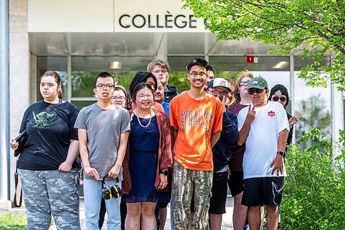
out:
<path id="1" fill-rule="evenodd" d="M 139 118 L 146 126 L 150 119 Z M 159 129 L 157 117 L 151 119 L 148 127 L 141 127 L 133 114 L 130 122 L 128 168 L 132 189 L 124 194 L 124 202 L 159 202 L 159 192 L 155 189 L 158 163 Z"/>

